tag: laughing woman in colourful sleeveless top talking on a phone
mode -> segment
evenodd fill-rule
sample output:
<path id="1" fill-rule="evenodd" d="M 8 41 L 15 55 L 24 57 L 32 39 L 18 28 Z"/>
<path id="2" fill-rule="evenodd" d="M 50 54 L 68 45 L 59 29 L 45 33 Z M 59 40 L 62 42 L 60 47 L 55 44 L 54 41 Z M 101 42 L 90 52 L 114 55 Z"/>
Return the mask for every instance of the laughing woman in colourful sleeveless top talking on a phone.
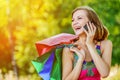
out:
<path id="1" fill-rule="evenodd" d="M 87 29 L 84 26 L 87 25 Z M 112 42 L 108 31 L 90 7 L 72 13 L 72 28 L 78 39 L 62 53 L 62 80 L 100 80 L 110 72 Z"/>

